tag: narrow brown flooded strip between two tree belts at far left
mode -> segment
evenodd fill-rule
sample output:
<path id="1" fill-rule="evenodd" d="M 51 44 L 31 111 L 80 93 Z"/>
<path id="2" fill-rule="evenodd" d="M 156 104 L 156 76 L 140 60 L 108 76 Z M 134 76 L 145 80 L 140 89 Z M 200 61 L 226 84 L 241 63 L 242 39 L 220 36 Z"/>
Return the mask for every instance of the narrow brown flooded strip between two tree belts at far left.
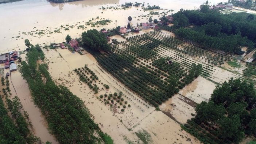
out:
<path id="1" fill-rule="evenodd" d="M 24 54 L 22 55 L 22 58 L 24 58 Z M 5 70 L 5 74 L 7 72 L 9 72 L 9 69 Z M 46 141 L 50 141 L 52 144 L 57 144 L 55 137 L 51 135 L 47 130 L 48 125 L 43 115 L 41 114 L 40 109 L 37 108 L 32 102 L 28 84 L 22 78 L 20 73 L 18 71 L 11 72 L 9 82 L 12 97 L 18 96 L 20 98 L 23 109 L 28 113 L 31 124 L 34 127 L 35 136 L 40 137 L 44 143 Z"/>

